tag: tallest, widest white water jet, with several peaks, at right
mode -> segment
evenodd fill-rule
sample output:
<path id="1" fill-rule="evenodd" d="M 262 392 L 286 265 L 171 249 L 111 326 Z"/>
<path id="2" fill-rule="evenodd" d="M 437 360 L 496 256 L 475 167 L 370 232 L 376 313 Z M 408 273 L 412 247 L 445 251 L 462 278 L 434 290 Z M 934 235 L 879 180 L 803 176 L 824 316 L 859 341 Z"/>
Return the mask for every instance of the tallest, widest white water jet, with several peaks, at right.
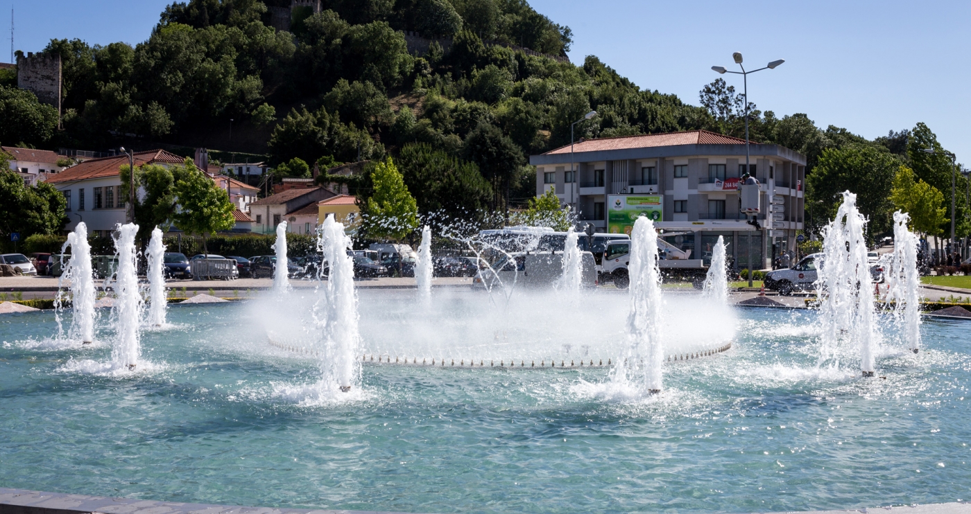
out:
<path id="1" fill-rule="evenodd" d="M 822 231 L 816 281 L 822 321 L 820 364 L 836 359 L 840 342 L 846 341 L 859 351 L 863 376 L 873 376 L 878 334 L 865 227 L 866 219 L 856 209 L 856 195 L 845 191 L 836 218 Z M 838 366 L 838 360 L 834 364 Z"/>

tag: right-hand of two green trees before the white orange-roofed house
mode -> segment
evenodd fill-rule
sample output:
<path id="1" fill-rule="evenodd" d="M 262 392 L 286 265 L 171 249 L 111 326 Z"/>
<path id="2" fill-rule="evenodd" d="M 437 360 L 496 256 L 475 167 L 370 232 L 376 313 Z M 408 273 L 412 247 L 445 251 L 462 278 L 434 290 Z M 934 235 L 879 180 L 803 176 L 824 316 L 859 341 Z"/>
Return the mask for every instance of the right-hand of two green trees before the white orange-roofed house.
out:
<path id="1" fill-rule="evenodd" d="M 186 159 L 184 173 L 175 185 L 178 208 L 173 214 L 176 225 L 188 234 L 202 236 L 204 253 L 209 253 L 206 239 L 236 224 L 233 203 L 208 175 Z"/>

